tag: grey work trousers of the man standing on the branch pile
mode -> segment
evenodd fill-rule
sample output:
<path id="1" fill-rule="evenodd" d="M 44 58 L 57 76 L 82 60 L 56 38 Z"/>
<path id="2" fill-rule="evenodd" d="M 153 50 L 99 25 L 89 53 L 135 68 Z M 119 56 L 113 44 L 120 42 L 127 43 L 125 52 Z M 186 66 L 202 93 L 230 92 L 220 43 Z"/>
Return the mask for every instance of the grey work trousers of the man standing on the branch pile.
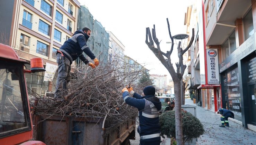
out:
<path id="1" fill-rule="evenodd" d="M 58 63 L 58 77 L 54 97 L 62 98 L 63 95 L 66 95 L 67 84 L 71 78 L 71 62 L 65 56 L 62 56 L 61 53 L 57 53 L 56 62 Z"/>

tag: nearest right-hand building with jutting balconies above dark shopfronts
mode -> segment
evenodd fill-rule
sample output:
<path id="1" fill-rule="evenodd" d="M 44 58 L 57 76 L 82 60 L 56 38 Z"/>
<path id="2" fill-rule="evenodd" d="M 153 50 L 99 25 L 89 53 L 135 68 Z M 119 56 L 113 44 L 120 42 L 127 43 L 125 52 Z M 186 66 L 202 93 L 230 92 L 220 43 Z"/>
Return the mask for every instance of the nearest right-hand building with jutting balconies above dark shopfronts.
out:
<path id="1" fill-rule="evenodd" d="M 206 49 L 219 54 L 221 106 L 255 129 L 256 1 L 205 0 L 204 8 Z"/>

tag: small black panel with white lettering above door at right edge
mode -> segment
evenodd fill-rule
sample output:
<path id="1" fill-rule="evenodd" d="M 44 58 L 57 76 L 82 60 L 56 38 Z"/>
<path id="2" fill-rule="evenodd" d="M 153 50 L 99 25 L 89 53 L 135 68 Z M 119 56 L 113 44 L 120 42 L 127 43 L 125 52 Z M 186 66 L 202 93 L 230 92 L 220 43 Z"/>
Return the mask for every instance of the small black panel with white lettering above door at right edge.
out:
<path id="1" fill-rule="evenodd" d="M 247 79 L 248 82 L 256 80 L 256 57 L 247 62 Z"/>

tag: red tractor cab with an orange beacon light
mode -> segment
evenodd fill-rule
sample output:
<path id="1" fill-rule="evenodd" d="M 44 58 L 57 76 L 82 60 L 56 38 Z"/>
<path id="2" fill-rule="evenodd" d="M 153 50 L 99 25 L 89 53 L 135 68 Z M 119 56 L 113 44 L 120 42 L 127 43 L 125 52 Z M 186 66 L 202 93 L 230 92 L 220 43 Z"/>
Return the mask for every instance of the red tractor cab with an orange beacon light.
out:
<path id="1" fill-rule="evenodd" d="M 28 62 L 18 57 L 15 50 L 0 43 L 0 144 L 45 145 L 33 141 L 26 72 L 45 71 L 42 58 Z"/>

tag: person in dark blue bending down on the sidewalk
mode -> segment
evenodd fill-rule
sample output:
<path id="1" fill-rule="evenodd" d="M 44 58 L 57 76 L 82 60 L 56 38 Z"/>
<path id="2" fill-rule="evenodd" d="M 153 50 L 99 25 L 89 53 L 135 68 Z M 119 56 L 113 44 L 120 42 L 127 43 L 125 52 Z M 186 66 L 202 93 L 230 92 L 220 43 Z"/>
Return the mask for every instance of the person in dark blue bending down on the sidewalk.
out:
<path id="1" fill-rule="evenodd" d="M 234 113 L 231 112 L 230 110 L 224 109 L 224 108 L 220 108 L 218 111 L 218 114 L 221 114 L 220 120 L 221 120 L 221 125 L 220 127 L 229 127 L 229 123 L 228 123 L 228 117 L 231 117 L 234 119 Z M 226 125 L 225 125 L 226 123 Z"/>

